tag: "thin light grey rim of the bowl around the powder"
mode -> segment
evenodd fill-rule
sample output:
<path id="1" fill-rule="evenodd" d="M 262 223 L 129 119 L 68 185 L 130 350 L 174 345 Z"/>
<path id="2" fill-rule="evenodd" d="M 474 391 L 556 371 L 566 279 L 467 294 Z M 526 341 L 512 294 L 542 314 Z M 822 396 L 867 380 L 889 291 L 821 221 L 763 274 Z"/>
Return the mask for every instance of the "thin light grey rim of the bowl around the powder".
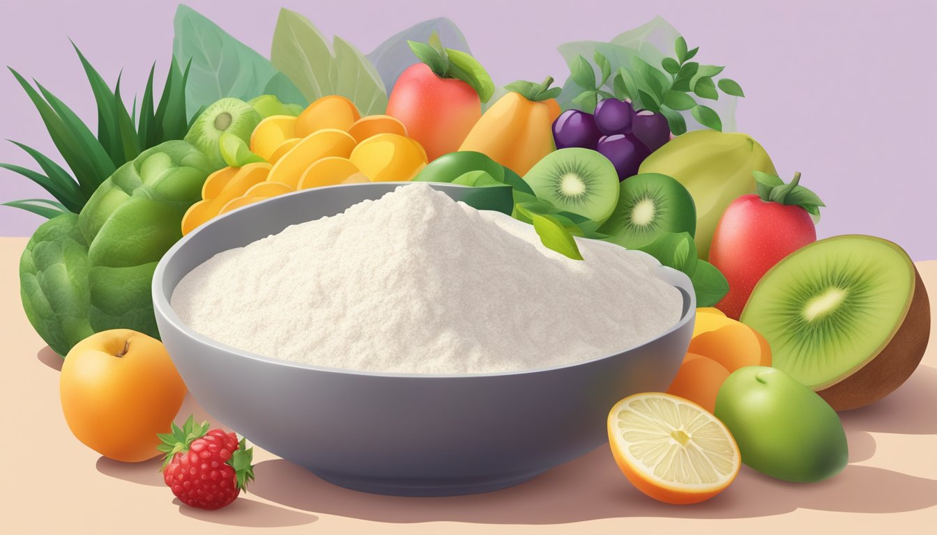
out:
<path id="1" fill-rule="evenodd" d="M 637 344 L 637 345 L 634 345 L 634 346 L 631 346 L 631 347 L 628 347 L 628 348 L 623 348 L 623 349 L 617 350 L 617 351 L 612 352 L 612 353 L 609 353 L 609 354 L 603 354 L 603 355 L 601 355 L 601 356 L 594 357 L 594 358 L 591 358 L 591 359 L 587 359 L 587 360 L 584 360 L 584 361 L 578 361 L 578 362 L 568 363 L 568 364 L 558 364 L 558 365 L 546 366 L 546 367 L 539 367 L 539 368 L 527 368 L 527 369 L 520 369 L 520 370 L 508 370 L 508 371 L 498 371 L 498 372 L 480 372 L 480 373 L 468 373 L 468 374 L 458 374 L 458 373 L 434 374 L 434 373 L 381 372 L 381 371 L 354 370 L 354 369 L 348 369 L 348 368 L 335 368 L 335 367 L 331 367 L 331 366 L 323 366 L 323 365 L 319 365 L 319 364 L 305 364 L 305 363 L 297 363 L 297 362 L 292 362 L 292 361 L 285 361 L 285 360 L 276 359 L 276 358 L 274 358 L 274 357 L 268 357 L 268 356 L 265 356 L 265 355 L 261 355 L 261 354 L 259 354 L 259 353 L 254 353 L 254 352 L 252 352 L 252 351 L 247 351 L 247 350 L 245 350 L 245 349 L 234 348 L 234 347 L 232 347 L 232 346 L 229 346 L 229 345 L 227 345 L 227 344 L 224 344 L 224 343 L 222 343 L 222 342 L 219 342 L 219 341 L 217 341 L 217 340 L 215 340 L 215 339 L 213 339 L 213 338 L 209 338 L 208 336 L 205 336 L 204 334 L 197 333 L 196 331 L 190 329 L 190 328 L 186 325 L 186 323 L 183 322 L 183 320 L 181 320 L 181 319 L 179 318 L 179 316 L 175 313 L 175 310 L 172 309 L 172 306 L 170 305 L 169 300 L 168 300 L 168 299 L 166 298 L 166 296 L 165 296 L 165 293 L 164 293 L 164 291 L 163 291 L 163 280 L 164 280 L 164 278 L 165 278 L 165 276 L 166 276 L 166 268 L 167 268 L 167 265 L 172 261 L 172 258 L 173 258 L 183 247 L 186 246 L 186 244 L 187 244 L 189 241 L 191 241 L 195 236 L 197 236 L 199 233 L 201 233 L 201 231 L 204 231 L 205 229 L 211 227 L 212 225 L 217 224 L 218 221 L 221 221 L 221 220 L 223 220 L 223 219 L 225 219 L 225 218 L 227 218 L 227 217 L 230 217 L 230 216 L 237 216 L 237 215 L 235 215 L 235 214 L 240 214 L 240 213 L 245 212 L 245 211 L 248 211 L 248 210 L 260 210 L 260 209 L 263 209 L 264 205 L 266 205 L 267 203 L 275 202 L 275 201 L 277 201 L 277 200 L 280 200 L 280 199 L 283 199 L 283 198 L 286 198 L 286 197 L 297 196 L 297 195 L 311 195 L 311 194 L 314 194 L 314 193 L 312 193 L 312 192 L 318 192 L 318 191 L 321 191 L 321 190 L 323 190 L 323 189 L 333 189 L 333 188 L 342 188 L 342 187 L 366 187 L 366 186 L 376 186 L 376 185 L 382 185 L 382 186 L 407 186 L 407 185 L 410 185 L 410 184 L 426 184 L 426 185 L 429 185 L 430 187 L 433 187 L 434 189 L 436 189 L 436 186 L 446 186 L 446 187 L 453 187 L 453 188 L 472 188 L 472 186 L 462 186 L 462 185 L 450 184 L 450 183 L 437 183 L 437 182 L 421 182 L 421 183 L 414 183 L 414 182 L 412 182 L 412 181 L 409 181 L 409 182 L 379 182 L 379 183 L 361 183 L 361 184 L 341 184 L 341 185 L 335 185 L 335 186 L 320 186 L 320 187 L 310 188 L 310 189 L 301 189 L 301 190 L 293 191 L 293 192 L 290 192 L 290 193 L 287 193 L 287 194 L 284 194 L 284 195 L 278 195 L 278 196 L 276 196 L 276 197 L 271 197 L 271 198 L 265 199 L 265 200 L 263 200 L 263 201 L 258 201 L 258 202 L 254 202 L 254 203 L 251 203 L 251 204 L 247 204 L 247 205 L 242 206 L 241 208 L 238 208 L 238 209 L 236 209 L 236 210 L 231 210 L 231 212 L 228 212 L 228 213 L 226 213 L 226 214 L 223 214 L 223 215 L 214 217 L 213 219 L 211 219 L 211 220 L 208 221 L 207 223 L 200 225 L 200 226 L 197 227 L 195 230 L 192 230 L 191 232 L 189 232 L 188 234 L 186 234 L 185 236 L 183 236 L 182 239 L 180 239 L 180 240 L 177 241 L 175 244 L 173 244 L 173 245 L 170 247 L 170 249 L 169 249 L 168 251 L 166 251 L 166 253 L 163 254 L 163 256 L 159 259 L 159 262 L 156 264 L 156 270 L 155 270 L 154 273 L 153 273 L 153 282 L 152 282 L 152 284 L 151 284 L 151 293 L 152 293 L 152 297 L 153 297 L 153 309 L 154 309 L 154 313 L 155 313 L 156 315 L 158 315 L 158 316 L 161 316 L 163 320 L 165 320 L 166 322 L 168 322 L 168 323 L 171 324 L 172 328 L 174 328 L 174 329 L 175 329 L 176 331 L 178 331 L 179 333 L 184 334 L 184 335 L 185 335 L 186 337 L 188 337 L 189 339 L 191 339 L 191 340 L 193 340 L 193 341 L 195 341 L 195 342 L 198 342 L 198 343 L 201 344 L 201 345 L 206 345 L 206 346 L 214 347 L 214 348 L 216 348 L 216 349 L 223 349 L 223 350 L 225 350 L 225 351 L 227 351 L 227 352 L 229 352 L 229 353 L 231 353 L 231 354 L 237 355 L 238 357 L 241 357 L 241 358 L 250 359 L 250 360 L 255 360 L 255 361 L 260 361 L 260 362 L 262 362 L 262 363 L 267 363 L 267 364 L 275 364 L 275 365 L 281 365 L 281 366 L 287 366 L 287 367 L 299 368 L 299 369 L 305 369 L 305 370 L 314 370 L 314 371 L 324 372 L 324 373 L 336 373 L 336 374 L 343 374 L 343 375 L 354 375 L 354 376 L 376 377 L 376 378 L 378 378 L 378 377 L 387 377 L 387 378 L 396 378 L 396 379 L 491 378 L 491 377 L 500 377 L 500 376 L 514 376 L 514 375 L 528 375 L 528 374 L 549 373 L 549 372 L 555 372 L 555 371 L 562 370 L 562 369 L 566 369 L 566 368 L 573 368 L 573 367 L 576 367 L 576 366 L 585 366 L 585 365 L 589 365 L 589 364 L 596 364 L 596 363 L 601 362 L 601 361 L 603 361 L 603 360 L 611 359 L 611 358 L 613 358 L 613 357 L 617 357 L 617 356 L 622 355 L 622 354 L 624 354 L 624 353 L 631 352 L 631 351 L 634 350 L 634 349 L 642 348 L 642 347 L 644 347 L 644 346 L 647 346 L 648 344 L 654 343 L 654 342 L 656 342 L 656 341 L 658 341 L 658 340 L 660 340 L 660 339 L 662 339 L 662 338 L 668 336 L 669 334 L 673 334 L 673 333 L 677 332 L 678 330 L 680 330 L 682 327 L 684 327 L 690 320 L 694 319 L 695 316 L 696 316 L 696 314 L 695 314 L 695 312 L 696 312 L 696 294 L 695 294 L 695 291 L 693 290 L 692 281 L 690 280 L 690 277 L 689 277 L 689 276 L 687 276 L 686 274 L 684 274 L 684 273 L 682 273 L 682 272 L 680 272 L 680 271 L 677 271 L 677 270 L 674 269 L 674 268 L 671 268 L 671 267 L 662 265 L 660 261 L 658 261 L 657 259 L 655 259 L 654 257 L 652 257 L 651 255 L 647 254 L 647 253 L 644 252 L 644 251 L 638 251 L 638 250 L 636 250 L 636 249 L 625 249 L 625 248 L 622 247 L 621 245 L 616 245 L 616 244 L 612 244 L 612 243 L 608 243 L 608 242 L 602 242 L 601 240 L 592 240 L 592 242 L 597 243 L 597 244 L 601 244 L 600 246 L 609 246 L 609 247 L 616 247 L 616 248 L 618 248 L 618 249 L 624 249 L 624 250 L 627 250 L 627 251 L 629 251 L 629 252 L 631 252 L 631 253 L 634 253 L 634 254 L 644 255 L 644 256 L 646 256 L 647 258 L 653 260 L 653 262 L 656 264 L 656 272 L 654 273 L 654 275 L 657 276 L 659 279 L 661 279 L 663 282 L 665 282 L 665 283 L 669 284 L 670 286 L 672 286 L 672 287 L 676 288 L 677 290 L 679 290 L 679 291 L 681 292 L 681 294 L 685 293 L 685 294 L 689 297 L 689 303 L 687 304 L 687 310 L 686 310 L 685 313 L 681 312 L 680 319 L 677 320 L 677 322 L 676 322 L 675 324 L 673 324 L 673 325 L 671 325 L 670 327 L 668 327 L 667 330 L 665 330 L 663 333 L 658 334 L 657 336 L 655 336 L 655 337 L 653 337 L 653 338 L 650 338 L 650 339 L 648 339 L 648 340 L 645 340 L 644 342 L 642 342 L 642 343 L 640 343 L 640 344 Z M 359 201 L 359 202 L 360 202 L 360 201 Z M 496 211 L 492 211 L 492 212 L 496 212 Z M 335 215 L 337 215 L 337 214 L 339 214 L 339 213 L 336 212 Z M 501 214 L 501 213 L 498 212 L 498 214 Z M 314 220 L 314 219 L 309 219 L 308 221 L 312 221 L 312 220 Z M 584 238 L 584 237 L 581 237 L 581 236 L 575 236 L 574 239 L 576 239 L 576 240 L 587 240 L 587 239 L 589 239 L 589 238 Z M 247 244 L 245 244 L 245 245 L 247 245 Z M 241 245 L 241 246 L 245 246 L 245 245 Z M 225 249 L 225 250 L 231 250 L 231 249 Z M 218 251 L 218 252 L 215 253 L 215 254 L 219 254 L 219 253 L 221 253 L 221 252 L 223 252 L 223 251 Z M 215 256 L 215 255 L 213 255 L 213 256 L 210 257 L 210 258 L 214 258 L 214 256 Z M 207 261 L 207 260 L 205 260 L 205 261 Z M 203 263 L 203 262 L 202 262 L 202 263 Z M 201 263 L 200 263 L 199 265 L 201 265 Z M 191 272 L 189 272 L 189 273 L 191 273 Z M 188 274 L 186 273 L 186 275 L 188 275 Z M 185 275 L 183 275 L 183 276 L 185 276 Z M 181 279 L 180 279 L 180 280 L 181 280 Z M 178 284 L 178 283 L 177 283 L 177 284 Z M 174 291 L 174 290 L 175 290 L 175 289 L 173 289 L 173 291 Z M 160 334 L 160 337 L 162 337 L 162 334 Z"/>

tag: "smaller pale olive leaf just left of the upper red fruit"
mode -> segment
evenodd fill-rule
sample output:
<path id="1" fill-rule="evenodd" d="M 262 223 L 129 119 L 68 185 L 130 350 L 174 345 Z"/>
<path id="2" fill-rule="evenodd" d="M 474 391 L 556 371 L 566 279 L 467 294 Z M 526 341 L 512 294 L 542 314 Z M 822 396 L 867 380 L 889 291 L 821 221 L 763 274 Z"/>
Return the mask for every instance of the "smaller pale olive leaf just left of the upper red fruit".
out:
<path id="1" fill-rule="evenodd" d="M 364 54 L 348 41 L 335 36 L 335 94 L 348 98 L 361 115 L 387 111 L 387 91 L 378 71 Z"/>

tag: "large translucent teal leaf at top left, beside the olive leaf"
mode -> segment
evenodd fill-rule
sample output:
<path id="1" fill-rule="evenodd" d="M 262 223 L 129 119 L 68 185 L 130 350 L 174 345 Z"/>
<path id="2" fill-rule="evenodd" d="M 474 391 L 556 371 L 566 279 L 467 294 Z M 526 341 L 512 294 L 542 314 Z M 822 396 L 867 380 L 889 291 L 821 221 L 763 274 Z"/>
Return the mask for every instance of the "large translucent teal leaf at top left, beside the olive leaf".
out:
<path id="1" fill-rule="evenodd" d="M 191 7 L 180 5 L 173 24 L 173 56 L 180 69 L 191 62 L 186 83 L 186 110 L 189 112 L 223 97 L 242 100 L 257 97 L 276 74 L 274 66 L 260 53 L 231 37 Z M 282 55 L 276 39 L 274 45 L 274 56 Z M 293 64 L 293 67 L 302 72 L 305 66 Z"/>

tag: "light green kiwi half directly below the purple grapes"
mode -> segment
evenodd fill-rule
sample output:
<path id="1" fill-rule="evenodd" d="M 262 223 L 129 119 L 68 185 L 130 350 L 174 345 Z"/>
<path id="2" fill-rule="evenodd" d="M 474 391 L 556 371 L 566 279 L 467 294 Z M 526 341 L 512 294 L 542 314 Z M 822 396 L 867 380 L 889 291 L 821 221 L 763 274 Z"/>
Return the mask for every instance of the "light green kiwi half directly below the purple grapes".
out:
<path id="1" fill-rule="evenodd" d="M 523 178 L 538 199 L 599 223 L 612 215 L 618 201 L 615 166 L 590 149 L 554 151 L 543 156 Z"/>

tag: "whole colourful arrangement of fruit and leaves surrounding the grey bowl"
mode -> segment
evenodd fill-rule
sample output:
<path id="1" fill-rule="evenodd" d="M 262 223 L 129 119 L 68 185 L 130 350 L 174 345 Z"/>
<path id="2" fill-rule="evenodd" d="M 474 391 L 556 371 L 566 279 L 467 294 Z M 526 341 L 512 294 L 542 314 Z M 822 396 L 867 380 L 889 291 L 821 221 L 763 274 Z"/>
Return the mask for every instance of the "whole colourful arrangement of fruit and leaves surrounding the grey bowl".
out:
<path id="1" fill-rule="evenodd" d="M 664 501 L 711 498 L 740 464 L 796 482 L 836 474 L 847 458 L 836 411 L 891 393 L 924 354 L 930 304 L 907 253 L 872 236 L 817 241 L 824 202 L 799 173 L 782 180 L 750 136 L 723 131 L 741 87 L 665 22 L 560 46 L 561 87 L 546 77 L 501 88 L 444 19 L 365 55 L 284 9 L 270 60 L 188 7 L 176 22 L 161 97 L 151 72 L 130 111 L 78 52 L 97 136 L 13 71 L 69 171 L 23 144 L 41 172 L 0 167 L 55 198 L 6 204 L 49 219 L 22 254 L 21 296 L 37 333 L 68 355 L 69 427 L 124 461 L 155 455 L 158 433 L 166 482 L 190 505 L 230 503 L 252 478 L 250 450 L 171 424 L 184 387 L 157 340 L 156 263 L 212 219 L 297 190 L 476 187 L 477 208 L 531 224 L 569 258 L 588 261 L 577 239 L 597 239 L 687 275 L 700 308 L 668 393 L 623 399 L 608 417 L 619 467 Z M 137 367 L 88 364 L 140 347 L 149 357 Z M 97 381 L 132 403 L 86 403 Z M 202 453 L 224 468 L 206 471 Z"/>

